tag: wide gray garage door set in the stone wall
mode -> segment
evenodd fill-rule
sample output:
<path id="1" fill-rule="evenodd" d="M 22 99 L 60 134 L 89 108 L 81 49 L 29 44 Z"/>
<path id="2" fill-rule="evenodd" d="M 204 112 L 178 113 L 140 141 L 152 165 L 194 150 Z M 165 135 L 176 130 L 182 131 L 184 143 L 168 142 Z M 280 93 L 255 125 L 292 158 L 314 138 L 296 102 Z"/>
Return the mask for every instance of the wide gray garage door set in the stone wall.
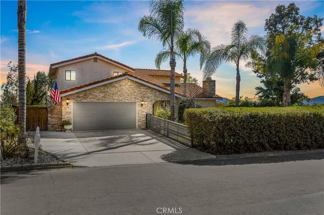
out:
<path id="1" fill-rule="evenodd" d="M 136 129 L 136 102 L 73 102 L 73 130 Z"/>

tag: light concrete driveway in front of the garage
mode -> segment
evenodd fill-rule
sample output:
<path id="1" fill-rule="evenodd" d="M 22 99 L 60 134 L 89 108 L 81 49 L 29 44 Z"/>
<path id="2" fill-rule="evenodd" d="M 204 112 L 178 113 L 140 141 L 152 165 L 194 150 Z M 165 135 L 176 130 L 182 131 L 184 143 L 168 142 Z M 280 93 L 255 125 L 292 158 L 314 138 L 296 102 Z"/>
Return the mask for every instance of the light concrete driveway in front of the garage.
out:
<path id="1" fill-rule="evenodd" d="M 43 150 L 74 166 L 176 162 L 214 158 L 151 130 L 41 131 Z"/>

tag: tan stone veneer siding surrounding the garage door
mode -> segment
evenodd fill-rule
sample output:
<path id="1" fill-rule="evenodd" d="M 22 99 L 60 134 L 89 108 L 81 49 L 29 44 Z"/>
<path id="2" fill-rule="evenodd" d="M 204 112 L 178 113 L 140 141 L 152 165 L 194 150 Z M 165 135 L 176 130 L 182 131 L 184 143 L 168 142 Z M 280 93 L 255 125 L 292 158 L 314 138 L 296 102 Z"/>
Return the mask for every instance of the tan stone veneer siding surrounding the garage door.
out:
<path id="1" fill-rule="evenodd" d="M 69 104 L 66 105 L 66 98 L 69 99 Z M 56 106 L 58 110 L 52 111 L 55 114 L 61 110 L 61 120 L 72 121 L 72 102 L 73 101 L 110 101 L 110 102 L 137 102 L 138 118 L 137 127 L 138 129 L 144 129 L 146 126 L 146 114 L 152 114 L 153 103 L 156 100 L 170 100 L 170 94 L 161 92 L 157 89 L 148 87 L 144 84 L 138 83 L 130 79 L 122 79 L 102 86 L 87 89 L 81 92 L 73 93 L 64 96 L 62 99 L 62 105 Z M 144 105 L 141 106 L 141 101 L 144 101 Z M 178 99 L 176 99 L 176 104 Z M 178 107 L 176 105 L 176 110 Z M 175 111 L 176 117 L 178 116 Z M 59 116 L 59 114 L 57 114 Z M 49 121 L 48 128 L 57 128 L 55 125 L 58 120 Z M 59 123 L 59 124 L 60 124 Z"/>

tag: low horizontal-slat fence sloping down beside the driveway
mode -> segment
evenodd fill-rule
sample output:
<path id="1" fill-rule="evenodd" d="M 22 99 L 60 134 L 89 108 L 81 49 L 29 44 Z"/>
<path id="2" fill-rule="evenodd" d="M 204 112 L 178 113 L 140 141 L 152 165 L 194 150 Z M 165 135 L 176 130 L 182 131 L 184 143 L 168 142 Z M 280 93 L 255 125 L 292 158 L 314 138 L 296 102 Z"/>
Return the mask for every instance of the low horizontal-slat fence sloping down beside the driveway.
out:
<path id="1" fill-rule="evenodd" d="M 146 128 L 191 147 L 191 138 L 185 125 L 146 114 Z"/>

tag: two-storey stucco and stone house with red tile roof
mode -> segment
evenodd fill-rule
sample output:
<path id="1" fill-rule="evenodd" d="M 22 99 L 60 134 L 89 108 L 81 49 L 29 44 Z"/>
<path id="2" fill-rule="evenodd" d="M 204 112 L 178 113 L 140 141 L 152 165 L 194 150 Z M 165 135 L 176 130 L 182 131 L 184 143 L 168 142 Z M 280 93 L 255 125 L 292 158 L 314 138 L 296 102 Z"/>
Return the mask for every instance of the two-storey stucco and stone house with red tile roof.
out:
<path id="1" fill-rule="evenodd" d="M 168 108 L 170 71 L 134 69 L 97 52 L 50 65 L 62 102 L 48 109 L 48 130 L 61 131 L 62 120 L 72 130 L 143 129 L 146 114 Z M 182 75 L 175 74 L 176 110 L 184 99 Z M 199 107 L 215 107 L 215 80 L 203 87 L 187 84 L 187 97 Z M 177 111 L 176 118 L 177 118 Z"/>

